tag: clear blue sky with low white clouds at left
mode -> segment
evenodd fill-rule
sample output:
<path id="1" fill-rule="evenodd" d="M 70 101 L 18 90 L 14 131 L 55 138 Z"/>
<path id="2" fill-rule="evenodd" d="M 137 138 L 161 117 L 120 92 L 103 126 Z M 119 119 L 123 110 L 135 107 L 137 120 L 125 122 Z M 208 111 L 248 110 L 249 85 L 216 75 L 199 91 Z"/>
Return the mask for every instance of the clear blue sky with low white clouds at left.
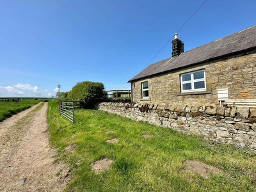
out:
<path id="1" fill-rule="evenodd" d="M 0 97 L 51 97 L 81 81 L 129 89 L 172 56 L 169 42 L 152 60 L 204 1 L 2 0 Z M 255 24 L 255 0 L 207 0 L 178 34 L 188 51 Z"/>

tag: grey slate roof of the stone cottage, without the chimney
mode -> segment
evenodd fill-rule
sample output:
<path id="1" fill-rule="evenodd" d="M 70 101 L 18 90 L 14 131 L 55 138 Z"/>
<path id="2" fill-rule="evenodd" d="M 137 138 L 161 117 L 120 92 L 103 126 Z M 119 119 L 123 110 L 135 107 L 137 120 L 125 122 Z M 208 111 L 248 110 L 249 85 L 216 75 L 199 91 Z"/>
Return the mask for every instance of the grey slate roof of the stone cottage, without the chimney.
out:
<path id="1" fill-rule="evenodd" d="M 244 29 L 232 35 L 225 36 L 209 44 L 196 47 L 190 51 L 182 52 L 179 56 L 167 58 L 149 65 L 128 82 L 133 82 L 146 77 L 164 74 L 178 68 L 211 61 L 214 59 L 236 54 L 256 48 L 256 26 Z"/>

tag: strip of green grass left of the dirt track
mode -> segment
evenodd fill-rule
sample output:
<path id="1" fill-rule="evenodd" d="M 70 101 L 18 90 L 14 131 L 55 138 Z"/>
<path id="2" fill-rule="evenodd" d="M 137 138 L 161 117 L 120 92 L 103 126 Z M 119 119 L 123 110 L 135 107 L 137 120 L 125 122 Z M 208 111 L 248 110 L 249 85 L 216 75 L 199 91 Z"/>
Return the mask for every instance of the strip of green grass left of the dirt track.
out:
<path id="1" fill-rule="evenodd" d="M 0 122 L 12 115 L 38 104 L 40 100 L 21 100 L 19 102 L 0 102 Z"/>

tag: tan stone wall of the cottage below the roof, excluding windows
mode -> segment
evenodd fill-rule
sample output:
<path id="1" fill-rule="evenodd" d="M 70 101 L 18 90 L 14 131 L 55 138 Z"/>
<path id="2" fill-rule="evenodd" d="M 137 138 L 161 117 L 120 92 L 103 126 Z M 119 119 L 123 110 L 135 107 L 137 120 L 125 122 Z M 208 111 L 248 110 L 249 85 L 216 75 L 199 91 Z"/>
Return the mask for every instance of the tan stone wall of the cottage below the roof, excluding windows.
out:
<path id="1" fill-rule="evenodd" d="M 180 74 L 205 69 L 205 92 L 180 93 Z M 148 81 L 149 99 L 141 99 L 141 83 Z M 256 51 L 183 68 L 132 83 L 132 101 L 141 104 L 220 106 L 216 89 L 228 88 L 229 99 L 256 99 Z"/>

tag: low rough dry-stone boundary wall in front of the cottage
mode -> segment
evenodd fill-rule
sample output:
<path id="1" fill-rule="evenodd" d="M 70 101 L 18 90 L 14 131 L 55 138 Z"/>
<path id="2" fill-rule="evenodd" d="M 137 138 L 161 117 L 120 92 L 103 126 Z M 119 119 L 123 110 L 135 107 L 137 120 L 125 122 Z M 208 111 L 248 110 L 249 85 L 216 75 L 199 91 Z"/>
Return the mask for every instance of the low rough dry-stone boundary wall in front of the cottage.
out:
<path id="1" fill-rule="evenodd" d="M 256 150 L 256 109 L 102 102 L 97 108 L 132 120 Z"/>

